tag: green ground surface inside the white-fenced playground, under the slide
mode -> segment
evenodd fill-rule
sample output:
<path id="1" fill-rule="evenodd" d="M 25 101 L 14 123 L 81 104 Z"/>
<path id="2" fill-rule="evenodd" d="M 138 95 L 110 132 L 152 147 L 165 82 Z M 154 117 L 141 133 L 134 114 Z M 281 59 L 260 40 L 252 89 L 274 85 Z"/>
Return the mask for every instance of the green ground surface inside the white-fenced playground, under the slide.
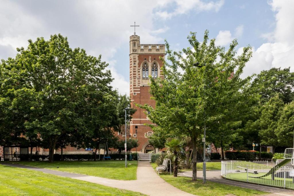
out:
<path id="1" fill-rule="evenodd" d="M 294 183 L 293 183 L 292 178 L 285 178 L 284 179 L 283 177 L 275 177 L 275 180 L 272 180 L 271 175 L 268 175 L 268 176 L 265 176 L 262 178 L 257 178 L 257 177 L 263 176 L 265 174 L 267 174 L 267 173 L 266 172 L 258 173 L 258 174 L 248 173 L 248 182 L 255 183 L 255 184 L 284 187 L 284 180 L 285 180 L 285 187 L 294 189 Z M 247 172 L 226 174 L 225 178 L 230 179 L 230 180 L 247 182 Z"/>

